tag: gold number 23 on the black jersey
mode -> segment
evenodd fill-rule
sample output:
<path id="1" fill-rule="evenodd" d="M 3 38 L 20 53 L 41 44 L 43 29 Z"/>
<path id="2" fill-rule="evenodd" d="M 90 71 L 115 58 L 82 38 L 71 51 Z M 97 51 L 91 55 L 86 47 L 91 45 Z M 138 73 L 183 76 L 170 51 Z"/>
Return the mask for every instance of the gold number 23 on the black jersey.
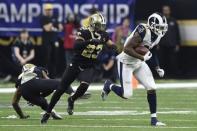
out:
<path id="1" fill-rule="evenodd" d="M 86 58 L 96 59 L 101 52 L 103 45 L 88 45 L 82 52 L 82 56 Z"/>

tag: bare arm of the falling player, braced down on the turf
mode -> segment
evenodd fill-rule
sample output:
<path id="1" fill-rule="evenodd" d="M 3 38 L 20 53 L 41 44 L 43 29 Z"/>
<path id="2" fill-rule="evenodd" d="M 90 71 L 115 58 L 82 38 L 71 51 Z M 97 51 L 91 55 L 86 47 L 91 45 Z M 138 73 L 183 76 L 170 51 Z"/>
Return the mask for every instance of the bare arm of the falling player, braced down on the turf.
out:
<path id="1" fill-rule="evenodd" d="M 20 118 L 24 118 L 25 116 L 19 106 L 20 98 L 21 98 L 21 92 L 17 88 L 12 98 L 12 107 L 14 108 L 14 110 L 16 111 L 16 113 L 19 115 Z"/>

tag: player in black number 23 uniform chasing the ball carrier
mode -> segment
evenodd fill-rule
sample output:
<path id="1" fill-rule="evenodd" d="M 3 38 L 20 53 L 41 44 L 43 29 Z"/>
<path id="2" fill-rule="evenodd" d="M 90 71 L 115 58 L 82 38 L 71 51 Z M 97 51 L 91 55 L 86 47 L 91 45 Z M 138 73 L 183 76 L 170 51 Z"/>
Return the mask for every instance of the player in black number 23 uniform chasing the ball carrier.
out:
<path id="1" fill-rule="evenodd" d="M 96 13 L 90 17 L 88 28 L 81 28 L 77 32 L 75 41 L 75 55 L 72 63 L 65 70 L 60 87 L 55 91 L 51 98 L 47 112 L 43 115 L 41 123 L 46 123 L 51 111 L 58 102 L 64 91 L 77 78 L 80 73 L 85 73 L 79 87 L 74 95 L 68 98 L 67 112 L 73 114 L 74 102 L 82 96 L 88 89 L 94 75 L 93 67 L 97 64 L 97 56 L 105 46 L 113 47 L 112 41 L 105 31 L 106 21 L 101 13 Z"/>

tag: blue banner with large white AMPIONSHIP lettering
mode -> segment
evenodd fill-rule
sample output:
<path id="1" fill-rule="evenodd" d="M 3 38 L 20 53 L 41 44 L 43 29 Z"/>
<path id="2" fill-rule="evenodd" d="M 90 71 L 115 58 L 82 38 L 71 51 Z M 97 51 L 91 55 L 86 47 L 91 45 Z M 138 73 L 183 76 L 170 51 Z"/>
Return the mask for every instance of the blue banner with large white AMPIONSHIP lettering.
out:
<path id="1" fill-rule="evenodd" d="M 16 36 L 22 28 L 39 36 L 44 3 L 53 4 L 60 22 L 64 22 L 69 13 L 76 13 L 83 19 L 92 7 L 96 7 L 107 18 L 109 29 L 120 24 L 125 17 L 130 17 L 133 23 L 135 0 L 1 0 L 0 36 Z"/>

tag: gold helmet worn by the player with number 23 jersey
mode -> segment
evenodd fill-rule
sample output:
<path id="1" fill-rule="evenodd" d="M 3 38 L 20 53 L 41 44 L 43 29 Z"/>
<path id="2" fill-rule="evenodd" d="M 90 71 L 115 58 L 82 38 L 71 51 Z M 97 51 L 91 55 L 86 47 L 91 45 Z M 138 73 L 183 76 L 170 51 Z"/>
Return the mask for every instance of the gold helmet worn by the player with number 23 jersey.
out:
<path id="1" fill-rule="evenodd" d="M 93 31 L 104 31 L 106 29 L 106 20 L 101 13 L 90 16 L 89 26 Z"/>

